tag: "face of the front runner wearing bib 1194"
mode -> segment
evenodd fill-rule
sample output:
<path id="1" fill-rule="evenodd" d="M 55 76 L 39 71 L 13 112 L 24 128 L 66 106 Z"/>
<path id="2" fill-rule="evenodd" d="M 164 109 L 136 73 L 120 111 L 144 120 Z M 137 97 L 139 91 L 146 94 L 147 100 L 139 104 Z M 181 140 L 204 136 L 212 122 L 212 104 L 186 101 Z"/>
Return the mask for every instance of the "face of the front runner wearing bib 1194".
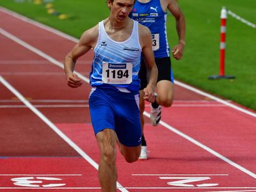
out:
<path id="1" fill-rule="evenodd" d="M 114 0 L 113 3 L 108 1 L 108 7 L 111 10 L 111 15 L 118 20 L 124 21 L 127 19 L 129 13 L 132 10 L 134 0 Z"/>

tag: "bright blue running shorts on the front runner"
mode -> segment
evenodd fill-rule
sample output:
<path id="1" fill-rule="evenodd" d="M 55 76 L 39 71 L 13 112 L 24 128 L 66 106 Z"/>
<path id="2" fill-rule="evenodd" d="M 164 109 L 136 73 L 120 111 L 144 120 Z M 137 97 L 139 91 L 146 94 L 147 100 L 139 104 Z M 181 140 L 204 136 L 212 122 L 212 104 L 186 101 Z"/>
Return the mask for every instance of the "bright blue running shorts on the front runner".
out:
<path id="1" fill-rule="evenodd" d="M 139 92 L 124 93 L 93 87 L 89 106 L 95 135 L 106 128 L 113 129 L 123 145 L 140 145 L 142 133 L 139 97 Z"/>

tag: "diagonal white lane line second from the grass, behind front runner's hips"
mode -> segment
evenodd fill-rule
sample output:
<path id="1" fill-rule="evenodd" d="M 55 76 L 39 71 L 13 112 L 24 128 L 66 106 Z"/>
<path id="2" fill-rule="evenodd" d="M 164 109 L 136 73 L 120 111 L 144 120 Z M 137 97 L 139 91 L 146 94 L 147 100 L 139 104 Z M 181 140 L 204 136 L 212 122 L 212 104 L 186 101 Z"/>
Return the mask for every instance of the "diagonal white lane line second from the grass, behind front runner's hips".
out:
<path id="1" fill-rule="evenodd" d="M 36 49 L 35 47 L 32 47 L 31 45 L 27 44 L 26 42 L 23 42 L 22 40 L 20 40 L 19 38 L 17 38 L 16 36 L 11 35 L 10 33 L 8 33 L 7 31 L 4 31 L 3 29 L 0 28 L 0 33 L 2 33 L 3 35 L 7 36 L 8 38 L 12 39 L 13 41 L 17 42 L 18 44 L 22 45 L 23 47 L 28 48 L 30 51 L 35 52 L 36 54 L 39 54 L 40 56 L 42 56 L 43 58 L 45 58 L 46 60 L 51 61 L 53 64 L 57 65 L 58 67 L 63 68 L 63 64 L 60 63 L 57 60 L 54 60 L 54 58 L 52 58 L 51 56 L 48 56 L 47 54 L 45 54 L 42 51 L 39 51 L 38 49 Z M 76 72 L 76 71 L 74 71 Z M 83 79 L 83 81 L 85 81 L 86 83 L 90 83 L 90 80 L 87 77 L 84 77 L 82 74 L 79 74 L 78 72 L 76 72 L 77 76 L 79 76 L 79 78 Z M 211 96 L 211 95 L 210 95 Z M 147 116 L 148 118 L 150 118 L 150 114 L 147 113 L 146 111 L 144 111 L 143 115 Z M 182 136 L 183 138 L 185 138 L 186 140 L 191 141 L 192 143 L 194 143 L 195 145 L 197 145 L 198 147 L 203 148 L 204 150 L 210 152 L 211 154 L 213 154 L 216 157 L 219 157 L 220 159 L 222 159 L 223 161 L 225 161 L 226 163 L 236 167 L 237 169 L 241 170 L 242 172 L 252 176 L 253 178 L 256 179 L 256 174 L 253 172 L 250 172 L 249 170 L 246 170 L 246 168 L 243 168 L 242 166 L 240 166 L 239 164 L 234 163 L 234 161 L 231 161 L 230 159 L 227 159 L 227 157 L 222 156 L 221 154 L 219 154 L 218 152 L 215 152 L 214 150 L 212 150 L 209 147 L 206 147 L 205 145 L 203 145 L 202 143 L 194 140 L 193 138 L 191 138 L 190 136 L 184 134 L 183 132 L 180 132 L 179 130 L 175 129 L 174 127 L 166 124 L 163 121 L 160 121 L 159 124 L 163 125 L 164 127 L 166 127 L 167 129 L 169 129 L 170 131 L 175 132 L 176 134 L 178 134 L 179 136 Z"/>

